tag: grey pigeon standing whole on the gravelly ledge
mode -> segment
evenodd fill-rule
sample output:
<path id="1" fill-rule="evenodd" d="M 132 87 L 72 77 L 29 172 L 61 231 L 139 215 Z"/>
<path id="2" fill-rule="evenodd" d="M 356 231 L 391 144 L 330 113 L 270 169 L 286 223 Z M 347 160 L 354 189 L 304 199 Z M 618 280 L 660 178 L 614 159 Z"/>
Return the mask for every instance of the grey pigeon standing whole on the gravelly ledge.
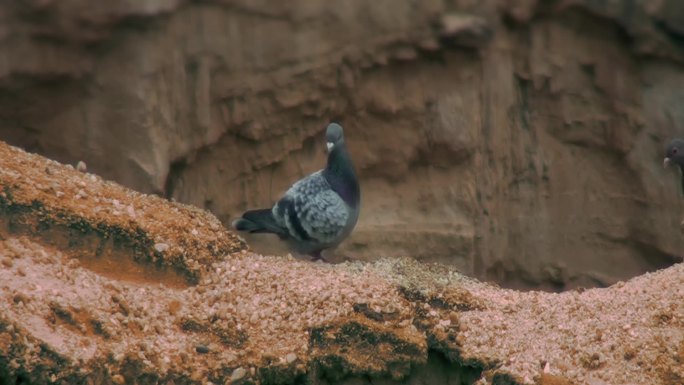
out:
<path id="1" fill-rule="evenodd" d="M 314 261 L 342 242 L 359 219 L 361 191 L 342 126 L 329 124 L 325 138 L 328 163 L 323 170 L 297 181 L 272 208 L 245 212 L 233 227 L 277 234 Z"/>

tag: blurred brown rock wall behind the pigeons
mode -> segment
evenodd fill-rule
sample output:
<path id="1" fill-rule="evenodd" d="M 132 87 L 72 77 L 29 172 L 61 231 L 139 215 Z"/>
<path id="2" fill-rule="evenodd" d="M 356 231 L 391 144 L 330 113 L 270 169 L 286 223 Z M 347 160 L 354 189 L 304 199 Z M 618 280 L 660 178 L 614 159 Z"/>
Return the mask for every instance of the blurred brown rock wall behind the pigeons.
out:
<path id="1" fill-rule="evenodd" d="M 0 3 L 0 139 L 226 225 L 331 120 L 363 191 L 337 255 L 554 290 L 681 261 L 679 0 Z"/>

